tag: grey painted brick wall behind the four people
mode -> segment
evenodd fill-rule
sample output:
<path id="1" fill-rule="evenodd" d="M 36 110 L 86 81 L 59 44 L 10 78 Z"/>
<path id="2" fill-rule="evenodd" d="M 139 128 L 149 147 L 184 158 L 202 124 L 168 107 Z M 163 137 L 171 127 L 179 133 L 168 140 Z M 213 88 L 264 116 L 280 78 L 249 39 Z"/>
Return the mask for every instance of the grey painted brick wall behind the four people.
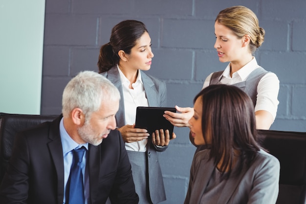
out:
<path id="1" fill-rule="evenodd" d="M 42 114 L 61 113 L 62 91 L 81 70 L 96 70 L 99 48 L 122 20 L 147 25 L 153 44 L 148 73 L 164 80 L 169 106 L 190 106 L 208 74 L 222 70 L 214 20 L 233 5 L 252 9 L 266 31 L 259 64 L 280 79 L 280 105 L 271 129 L 306 132 L 306 1 L 291 0 L 46 0 Z M 183 203 L 195 147 L 188 128 L 159 154 L 167 201 Z"/>

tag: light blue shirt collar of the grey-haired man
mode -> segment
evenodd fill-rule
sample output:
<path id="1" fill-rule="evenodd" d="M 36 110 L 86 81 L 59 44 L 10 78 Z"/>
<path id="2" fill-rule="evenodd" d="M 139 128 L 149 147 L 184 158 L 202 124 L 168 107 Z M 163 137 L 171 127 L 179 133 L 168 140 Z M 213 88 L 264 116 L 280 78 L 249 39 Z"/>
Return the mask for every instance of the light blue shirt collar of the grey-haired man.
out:
<path id="1" fill-rule="evenodd" d="M 67 133 L 65 127 L 64 127 L 64 117 L 62 117 L 60 122 L 60 135 L 62 140 L 62 146 L 63 146 L 63 155 L 65 156 L 68 152 L 70 152 L 73 149 L 79 149 L 82 146 L 84 146 L 88 150 L 88 142 L 84 144 L 78 144 L 75 142 Z"/>

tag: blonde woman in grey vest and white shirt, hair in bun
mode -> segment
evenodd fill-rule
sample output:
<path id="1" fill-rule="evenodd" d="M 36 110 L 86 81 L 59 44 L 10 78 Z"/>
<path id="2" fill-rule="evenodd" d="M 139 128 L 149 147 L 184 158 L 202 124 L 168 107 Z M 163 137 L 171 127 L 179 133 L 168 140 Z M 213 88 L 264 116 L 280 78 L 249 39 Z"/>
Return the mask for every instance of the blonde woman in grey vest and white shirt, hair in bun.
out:
<path id="1" fill-rule="evenodd" d="M 244 6 L 233 6 L 219 12 L 215 20 L 215 35 L 220 62 L 229 62 L 225 70 L 211 73 L 203 89 L 212 84 L 234 85 L 252 99 L 257 129 L 269 129 L 277 112 L 279 101 L 278 77 L 257 64 L 254 52 L 264 40 L 265 31 L 259 26 L 254 12 Z M 164 115 L 177 127 L 188 126 L 193 108 L 180 108 Z"/>

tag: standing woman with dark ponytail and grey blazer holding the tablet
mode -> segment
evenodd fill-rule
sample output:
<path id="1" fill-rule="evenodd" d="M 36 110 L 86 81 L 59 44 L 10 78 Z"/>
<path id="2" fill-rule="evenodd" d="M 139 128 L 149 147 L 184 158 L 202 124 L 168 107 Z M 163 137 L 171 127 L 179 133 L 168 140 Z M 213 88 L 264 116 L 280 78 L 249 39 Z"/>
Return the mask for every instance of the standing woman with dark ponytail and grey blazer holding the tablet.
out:
<path id="1" fill-rule="evenodd" d="M 140 204 L 166 200 L 156 152 L 167 149 L 169 131 L 156 131 L 151 141 L 147 130 L 134 128 L 137 106 L 167 106 L 166 84 L 144 73 L 151 68 L 153 56 L 151 38 L 144 23 L 126 20 L 112 28 L 109 43 L 101 47 L 98 61 L 99 72 L 121 95 L 115 117 L 126 142 Z"/>

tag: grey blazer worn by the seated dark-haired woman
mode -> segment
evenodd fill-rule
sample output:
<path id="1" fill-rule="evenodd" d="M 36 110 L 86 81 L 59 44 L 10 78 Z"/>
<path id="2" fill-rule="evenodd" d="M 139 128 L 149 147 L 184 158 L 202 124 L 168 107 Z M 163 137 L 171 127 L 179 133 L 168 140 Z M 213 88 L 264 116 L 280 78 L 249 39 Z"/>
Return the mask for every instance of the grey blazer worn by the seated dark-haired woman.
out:
<path id="1" fill-rule="evenodd" d="M 199 151 L 190 169 L 184 204 L 200 204 L 201 197 L 216 168 L 209 151 Z M 230 177 L 220 192 L 217 204 L 275 204 L 279 192 L 280 162 L 260 150 L 251 166 L 243 166 L 238 177 Z"/>

